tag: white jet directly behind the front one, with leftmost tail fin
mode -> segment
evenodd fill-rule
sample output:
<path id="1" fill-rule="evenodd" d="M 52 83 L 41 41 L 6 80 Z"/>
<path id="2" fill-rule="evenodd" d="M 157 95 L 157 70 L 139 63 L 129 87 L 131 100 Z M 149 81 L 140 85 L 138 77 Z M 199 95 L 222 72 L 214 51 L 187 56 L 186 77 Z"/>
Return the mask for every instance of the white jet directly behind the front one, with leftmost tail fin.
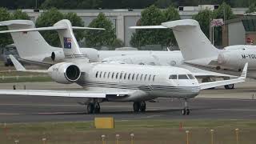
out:
<path id="1" fill-rule="evenodd" d="M 2 26 L 8 26 L 9 30 L 32 29 L 34 22 L 27 20 L 11 20 L 0 22 Z M 74 27 L 77 28 L 77 27 Z M 93 30 L 102 30 L 87 28 Z M 11 33 L 17 46 L 20 59 L 23 62 L 51 66 L 54 63 L 64 62 L 63 50 L 50 46 L 38 31 L 30 33 Z M 203 78 L 207 82 L 210 77 L 230 78 L 227 74 L 218 74 L 206 70 L 200 70 L 192 66 L 184 66 L 184 58 L 179 50 L 176 51 L 147 51 L 147 50 L 95 50 L 91 48 L 80 48 L 82 54 L 89 58 L 90 62 L 122 63 L 156 66 L 180 66 L 190 70 L 197 78 Z M 227 87 L 228 89 L 229 87 Z"/>

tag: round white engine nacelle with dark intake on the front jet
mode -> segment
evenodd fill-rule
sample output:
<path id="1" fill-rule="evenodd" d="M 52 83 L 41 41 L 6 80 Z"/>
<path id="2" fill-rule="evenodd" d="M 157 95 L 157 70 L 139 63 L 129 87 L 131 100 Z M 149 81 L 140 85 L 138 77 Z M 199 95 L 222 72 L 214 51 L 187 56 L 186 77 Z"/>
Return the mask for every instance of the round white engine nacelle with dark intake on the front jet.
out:
<path id="1" fill-rule="evenodd" d="M 74 63 L 61 62 L 50 66 L 48 74 L 55 82 L 70 84 L 78 81 L 81 76 L 81 71 Z"/>

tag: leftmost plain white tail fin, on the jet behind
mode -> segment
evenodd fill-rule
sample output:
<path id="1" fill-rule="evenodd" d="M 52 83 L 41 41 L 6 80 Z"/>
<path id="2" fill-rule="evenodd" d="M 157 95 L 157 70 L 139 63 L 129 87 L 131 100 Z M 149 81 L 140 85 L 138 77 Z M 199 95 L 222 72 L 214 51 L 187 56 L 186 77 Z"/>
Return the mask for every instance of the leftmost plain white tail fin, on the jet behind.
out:
<path id="1" fill-rule="evenodd" d="M 34 22 L 29 20 L 11 20 L 0 22 L 0 26 L 7 26 L 9 30 L 31 29 L 34 28 Z M 38 31 L 30 33 L 19 32 L 11 33 L 15 46 L 17 46 L 20 58 L 38 61 L 40 55 L 42 59 L 50 57 L 53 51 L 59 48 L 50 46 Z M 41 59 L 41 60 L 42 60 Z"/>

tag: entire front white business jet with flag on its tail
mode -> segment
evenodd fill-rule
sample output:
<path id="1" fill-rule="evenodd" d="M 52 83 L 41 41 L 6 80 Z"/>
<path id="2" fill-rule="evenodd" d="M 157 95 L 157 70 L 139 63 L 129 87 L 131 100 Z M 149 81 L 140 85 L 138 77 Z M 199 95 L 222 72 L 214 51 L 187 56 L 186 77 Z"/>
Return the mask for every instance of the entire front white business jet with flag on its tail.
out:
<path id="1" fill-rule="evenodd" d="M 89 63 L 79 49 L 69 20 L 46 28 L 7 31 L 30 33 L 35 30 L 57 30 L 64 54 L 70 55 L 66 62 L 54 64 L 45 72 L 55 82 L 75 82 L 86 90 L 0 90 L 0 94 L 86 98 L 89 114 L 100 112 L 99 102 L 134 102 L 134 111 L 138 112 L 145 111 L 146 101 L 154 98 L 182 98 L 185 100 L 182 114 L 190 114 L 187 100 L 197 96 L 200 90 L 246 79 L 247 63 L 239 78 L 200 84 L 189 70 L 178 67 Z M 17 62 L 14 61 L 14 65 Z"/>

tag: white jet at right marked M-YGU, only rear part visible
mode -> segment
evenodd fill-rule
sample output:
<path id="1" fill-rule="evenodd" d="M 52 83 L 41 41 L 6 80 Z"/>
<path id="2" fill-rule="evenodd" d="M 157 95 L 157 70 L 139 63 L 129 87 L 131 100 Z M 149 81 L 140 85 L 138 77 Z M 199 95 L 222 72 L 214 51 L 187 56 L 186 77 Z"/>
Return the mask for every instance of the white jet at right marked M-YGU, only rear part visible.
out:
<path id="1" fill-rule="evenodd" d="M 190 66 L 223 74 L 238 75 L 249 62 L 248 77 L 256 78 L 256 46 L 227 46 L 218 50 L 193 19 L 163 22 L 161 26 L 132 26 L 132 29 L 166 29 L 174 31 L 184 62 Z M 186 39 L 186 40 L 184 40 Z"/>

